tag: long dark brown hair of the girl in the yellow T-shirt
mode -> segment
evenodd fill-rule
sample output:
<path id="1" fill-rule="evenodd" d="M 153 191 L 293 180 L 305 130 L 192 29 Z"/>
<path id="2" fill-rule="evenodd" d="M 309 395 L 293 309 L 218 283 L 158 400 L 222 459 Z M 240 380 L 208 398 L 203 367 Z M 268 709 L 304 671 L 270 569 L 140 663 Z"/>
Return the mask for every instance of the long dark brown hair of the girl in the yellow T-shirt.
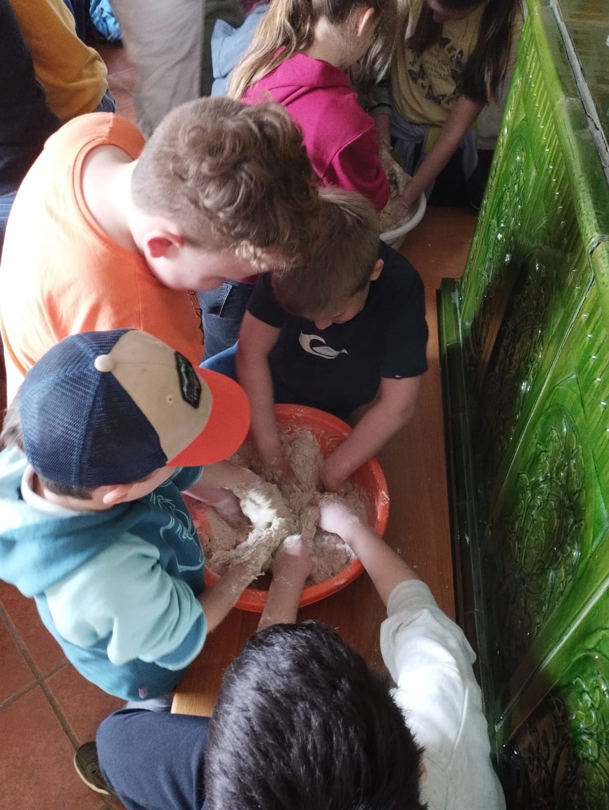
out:
<path id="1" fill-rule="evenodd" d="M 451 11 L 473 11 L 480 3 L 479 0 L 441 0 L 441 5 Z M 467 60 L 461 87 L 464 96 L 479 104 L 495 101 L 499 95 L 508 66 L 513 19 L 518 6 L 519 0 L 487 0 L 484 6 L 478 41 Z M 415 31 L 406 45 L 420 56 L 437 42 L 441 32 L 442 23 L 434 23 L 433 11 L 424 2 Z"/>

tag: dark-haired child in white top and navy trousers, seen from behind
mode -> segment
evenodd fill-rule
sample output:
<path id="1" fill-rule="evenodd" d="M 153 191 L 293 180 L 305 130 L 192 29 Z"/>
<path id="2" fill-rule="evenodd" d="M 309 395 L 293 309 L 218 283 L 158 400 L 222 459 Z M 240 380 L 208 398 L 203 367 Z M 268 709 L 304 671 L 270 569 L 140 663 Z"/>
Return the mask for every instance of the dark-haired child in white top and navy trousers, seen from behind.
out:
<path id="1" fill-rule="evenodd" d="M 320 513 L 387 608 L 380 645 L 396 689 L 330 627 L 294 624 L 308 569 L 292 538 L 212 718 L 111 714 L 97 732 L 101 773 L 77 765 L 89 787 L 127 810 L 505 810 L 462 629 L 339 496 L 322 496 Z"/>

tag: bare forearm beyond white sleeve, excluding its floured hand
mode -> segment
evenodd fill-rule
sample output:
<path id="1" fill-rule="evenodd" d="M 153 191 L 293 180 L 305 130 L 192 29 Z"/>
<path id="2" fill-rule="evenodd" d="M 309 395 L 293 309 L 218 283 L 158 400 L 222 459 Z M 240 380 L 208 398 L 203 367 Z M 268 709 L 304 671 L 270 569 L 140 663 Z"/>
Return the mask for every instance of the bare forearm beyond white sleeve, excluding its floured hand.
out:
<path id="1" fill-rule="evenodd" d="M 407 579 L 419 579 L 411 566 L 364 522 L 352 522 L 341 536 L 368 572 L 385 605 L 396 585 Z"/>

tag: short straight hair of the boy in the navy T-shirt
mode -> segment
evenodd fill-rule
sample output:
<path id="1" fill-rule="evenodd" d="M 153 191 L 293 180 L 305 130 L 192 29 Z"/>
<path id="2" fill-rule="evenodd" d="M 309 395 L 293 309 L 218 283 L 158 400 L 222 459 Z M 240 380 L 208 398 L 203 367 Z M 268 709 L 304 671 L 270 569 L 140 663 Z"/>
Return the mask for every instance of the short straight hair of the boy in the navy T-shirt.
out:
<path id="1" fill-rule="evenodd" d="M 355 191 L 320 191 L 317 239 L 309 258 L 272 274 L 279 304 L 292 315 L 331 315 L 363 290 L 378 256 L 379 221 L 373 204 Z"/>

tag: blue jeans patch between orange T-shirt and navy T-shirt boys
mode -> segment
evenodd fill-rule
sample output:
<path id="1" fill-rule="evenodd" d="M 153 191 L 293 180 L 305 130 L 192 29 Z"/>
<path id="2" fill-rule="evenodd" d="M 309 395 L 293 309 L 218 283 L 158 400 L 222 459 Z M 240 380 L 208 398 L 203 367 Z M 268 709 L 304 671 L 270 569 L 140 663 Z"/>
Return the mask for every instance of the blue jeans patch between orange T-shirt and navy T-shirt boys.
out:
<path id="1" fill-rule="evenodd" d="M 253 284 L 225 281 L 215 290 L 198 292 L 205 335 L 203 360 L 235 345 L 252 290 Z"/>

